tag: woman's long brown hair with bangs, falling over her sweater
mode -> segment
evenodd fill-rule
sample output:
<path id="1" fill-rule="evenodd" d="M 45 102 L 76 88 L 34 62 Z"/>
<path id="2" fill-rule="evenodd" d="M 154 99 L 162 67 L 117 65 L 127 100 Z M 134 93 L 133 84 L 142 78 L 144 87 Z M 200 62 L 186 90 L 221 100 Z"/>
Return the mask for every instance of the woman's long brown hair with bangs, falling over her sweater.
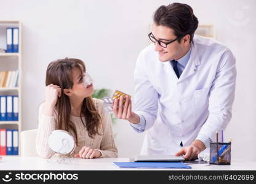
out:
<path id="1" fill-rule="evenodd" d="M 63 129 L 68 132 L 73 132 L 76 142 L 78 142 L 78 132 L 76 132 L 74 123 L 70 120 L 71 104 L 70 98 L 64 94 L 64 89 L 73 88 L 72 69 L 77 67 L 81 71 L 81 75 L 86 72 L 86 66 L 80 59 L 65 58 L 52 61 L 47 67 L 46 71 L 46 86 L 51 83 L 60 86 L 62 95 L 57 99 L 55 105 L 55 121 L 57 122 L 57 129 Z M 86 122 L 82 120 L 85 117 Z M 80 118 L 87 129 L 89 137 L 95 136 L 99 133 L 101 117 L 95 108 L 94 101 L 91 96 L 84 98 Z"/>

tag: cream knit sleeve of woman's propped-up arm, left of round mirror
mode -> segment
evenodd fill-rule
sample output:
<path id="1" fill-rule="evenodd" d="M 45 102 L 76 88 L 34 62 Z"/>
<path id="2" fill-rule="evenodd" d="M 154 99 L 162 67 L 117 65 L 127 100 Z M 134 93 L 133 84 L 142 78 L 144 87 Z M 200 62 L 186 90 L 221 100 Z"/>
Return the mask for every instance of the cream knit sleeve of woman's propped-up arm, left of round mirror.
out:
<path id="1" fill-rule="evenodd" d="M 38 135 L 36 136 L 36 151 L 42 158 L 49 158 L 54 155 L 54 151 L 50 150 L 48 145 L 48 137 L 55 130 L 54 117 L 44 115 L 44 104 L 39 107 L 39 125 Z"/>

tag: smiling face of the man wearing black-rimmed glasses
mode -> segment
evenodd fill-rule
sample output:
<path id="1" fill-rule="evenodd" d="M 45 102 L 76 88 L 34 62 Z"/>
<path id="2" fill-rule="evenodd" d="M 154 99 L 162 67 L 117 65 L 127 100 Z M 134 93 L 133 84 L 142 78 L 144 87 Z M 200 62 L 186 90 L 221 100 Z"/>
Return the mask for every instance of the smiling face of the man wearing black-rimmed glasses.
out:
<path id="1" fill-rule="evenodd" d="M 170 42 L 177 39 L 177 36 L 174 34 L 174 30 L 168 28 L 167 26 L 162 25 L 153 25 L 152 34 L 155 39 L 162 41 L 164 43 Z M 158 52 L 158 58 L 162 62 L 170 61 L 171 59 L 180 59 L 184 55 L 186 50 L 186 45 L 183 44 L 184 40 L 181 40 L 181 43 L 178 40 L 167 45 L 166 48 L 161 47 L 158 42 L 154 44 L 154 50 Z"/>

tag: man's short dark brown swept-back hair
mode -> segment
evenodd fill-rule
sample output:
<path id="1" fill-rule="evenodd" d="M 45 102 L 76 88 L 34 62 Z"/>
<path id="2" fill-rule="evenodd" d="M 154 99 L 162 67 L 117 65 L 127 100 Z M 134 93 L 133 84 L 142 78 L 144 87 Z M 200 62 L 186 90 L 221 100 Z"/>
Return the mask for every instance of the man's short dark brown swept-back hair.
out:
<path id="1" fill-rule="evenodd" d="M 190 34 L 190 42 L 193 40 L 194 31 L 198 28 L 198 18 L 194 16 L 193 9 L 187 4 L 178 2 L 159 7 L 154 12 L 153 20 L 157 26 L 174 29 L 174 34 L 177 37 Z M 181 39 L 178 39 L 179 43 Z"/>

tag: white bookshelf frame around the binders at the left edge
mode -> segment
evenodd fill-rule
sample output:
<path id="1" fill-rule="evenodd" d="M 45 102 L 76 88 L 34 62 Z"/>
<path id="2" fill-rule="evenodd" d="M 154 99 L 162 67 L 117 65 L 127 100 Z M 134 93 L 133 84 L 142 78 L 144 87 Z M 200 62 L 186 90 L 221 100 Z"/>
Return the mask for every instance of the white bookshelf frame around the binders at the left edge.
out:
<path id="1" fill-rule="evenodd" d="M 0 121 L 0 128 L 18 129 L 18 153 L 20 155 L 20 131 L 22 130 L 22 23 L 16 20 L 0 20 L 0 48 L 7 50 L 6 28 L 18 28 L 18 53 L 0 52 L 0 72 L 18 71 L 17 87 L 1 87 L 0 96 L 18 95 L 18 121 Z"/>

